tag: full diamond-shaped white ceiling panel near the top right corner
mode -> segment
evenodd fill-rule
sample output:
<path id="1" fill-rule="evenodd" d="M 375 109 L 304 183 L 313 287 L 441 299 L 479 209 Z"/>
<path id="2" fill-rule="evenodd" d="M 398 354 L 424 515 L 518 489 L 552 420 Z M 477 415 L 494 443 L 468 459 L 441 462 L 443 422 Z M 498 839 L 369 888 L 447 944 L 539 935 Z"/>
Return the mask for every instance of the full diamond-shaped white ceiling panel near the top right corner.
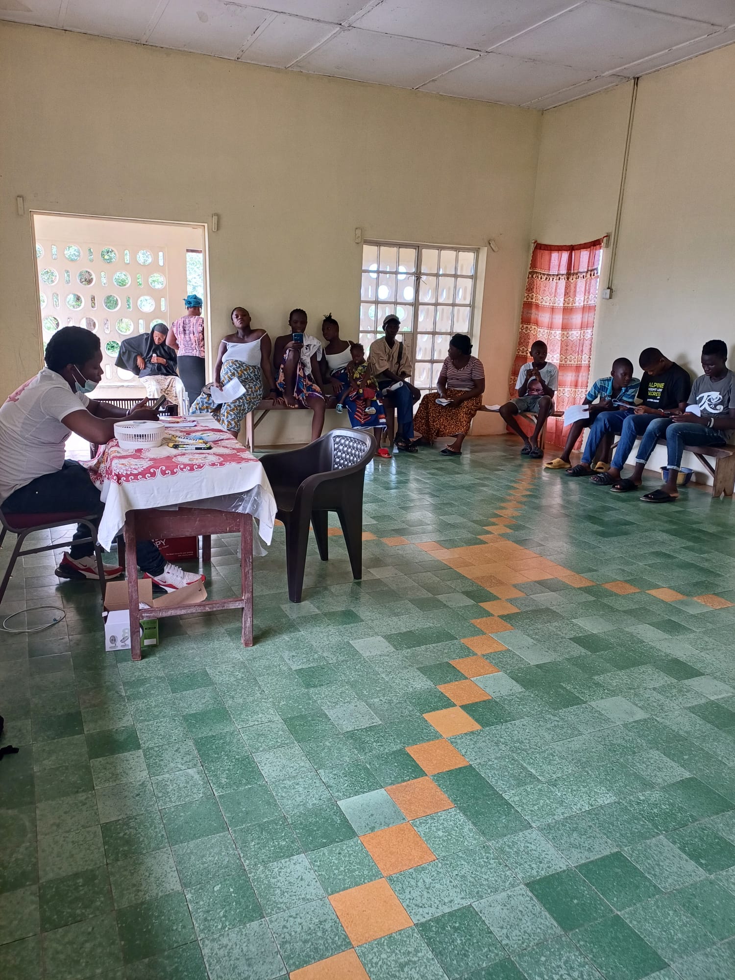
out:
<path id="1" fill-rule="evenodd" d="M 694 22 L 593 2 L 515 37 L 498 50 L 602 74 L 707 32 L 707 27 Z"/>

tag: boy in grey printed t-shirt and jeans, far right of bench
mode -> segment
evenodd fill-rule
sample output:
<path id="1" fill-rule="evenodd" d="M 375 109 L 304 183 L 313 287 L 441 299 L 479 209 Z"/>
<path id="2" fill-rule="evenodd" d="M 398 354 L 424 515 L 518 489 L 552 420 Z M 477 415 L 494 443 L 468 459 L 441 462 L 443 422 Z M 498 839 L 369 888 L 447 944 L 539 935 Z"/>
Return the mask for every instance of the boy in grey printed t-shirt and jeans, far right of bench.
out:
<path id="1" fill-rule="evenodd" d="M 727 368 L 727 344 L 708 340 L 702 348 L 701 374 L 692 386 L 687 409 L 666 427 L 668 479 L 659 490 L 644 494 L 647 504 L 667 504 L 679 496 L 676 481 L 684 446 L 725 446 L 735 442 L 735 374 Z"/>

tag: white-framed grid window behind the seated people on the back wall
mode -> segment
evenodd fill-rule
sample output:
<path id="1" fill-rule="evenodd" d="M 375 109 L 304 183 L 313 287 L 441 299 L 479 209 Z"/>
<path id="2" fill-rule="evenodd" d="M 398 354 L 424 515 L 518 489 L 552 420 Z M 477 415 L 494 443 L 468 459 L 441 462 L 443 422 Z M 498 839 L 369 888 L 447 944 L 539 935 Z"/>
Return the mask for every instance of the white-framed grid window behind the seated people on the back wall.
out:
<path id="1" fill-rule="evenodd" d="M 388 314 L 401 320 L 401 339 L 421 394 L 433 391 L 454 333 L 470 333 L 476 249 L 366 242 L 360 292 L 360 340 L 366 350 L 382 335 Z"/>

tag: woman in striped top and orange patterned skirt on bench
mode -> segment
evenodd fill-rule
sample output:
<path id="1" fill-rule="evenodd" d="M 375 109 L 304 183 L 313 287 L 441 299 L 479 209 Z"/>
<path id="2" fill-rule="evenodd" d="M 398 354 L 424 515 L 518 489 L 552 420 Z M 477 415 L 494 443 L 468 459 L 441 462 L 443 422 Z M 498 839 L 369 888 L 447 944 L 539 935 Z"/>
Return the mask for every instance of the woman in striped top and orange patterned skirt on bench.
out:
<path id="1" fill-rule="evenodd" d="M 442 436 L 454 442 L 442 456 L 461 456 L 469 423 L 482 405 L 485 371 L 482 362 L 470 354 L 472 345 L 465 333 L 456 333 L 449 342 L 449 357 L 442 366 L 437 390 L 424 395 L 414 418 L 414 430 L 428 443 Z M 439 405 L 438 400 L 449 402 Z"/>

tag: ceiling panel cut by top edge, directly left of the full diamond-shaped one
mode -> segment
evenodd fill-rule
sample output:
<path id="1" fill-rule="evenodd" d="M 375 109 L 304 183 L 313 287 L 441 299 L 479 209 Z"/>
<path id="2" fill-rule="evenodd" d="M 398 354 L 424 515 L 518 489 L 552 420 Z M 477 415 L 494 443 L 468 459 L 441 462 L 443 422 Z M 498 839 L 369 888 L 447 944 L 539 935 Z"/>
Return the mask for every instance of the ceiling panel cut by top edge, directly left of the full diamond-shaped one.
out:
<path id="1" fill-rule="evenodd" d="M 382 0 L 354 23 L 368 30 L 486 50 L 581 0 Z"/>

